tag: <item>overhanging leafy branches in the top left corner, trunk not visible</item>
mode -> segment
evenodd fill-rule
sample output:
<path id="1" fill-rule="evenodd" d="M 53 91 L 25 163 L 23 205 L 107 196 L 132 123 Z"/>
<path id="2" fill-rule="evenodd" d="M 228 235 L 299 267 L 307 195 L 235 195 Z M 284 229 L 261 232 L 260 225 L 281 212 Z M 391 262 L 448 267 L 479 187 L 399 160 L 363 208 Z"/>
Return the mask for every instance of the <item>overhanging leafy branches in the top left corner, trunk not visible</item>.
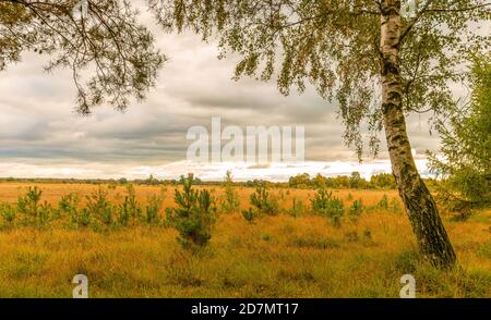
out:
<path id="1" fill-rule="evenodd" d="M 25 51 L 50 57 L 47 70 L 72 73 L 76 109 L 84 114 L 104 103 L 123 110 L 129 98 L 143 99 L 165 57 L 133 4 L 91 1 L 89 16 L 77 21 L 71 14 L 75 2 L 1 1 L 0 71 Z"/>

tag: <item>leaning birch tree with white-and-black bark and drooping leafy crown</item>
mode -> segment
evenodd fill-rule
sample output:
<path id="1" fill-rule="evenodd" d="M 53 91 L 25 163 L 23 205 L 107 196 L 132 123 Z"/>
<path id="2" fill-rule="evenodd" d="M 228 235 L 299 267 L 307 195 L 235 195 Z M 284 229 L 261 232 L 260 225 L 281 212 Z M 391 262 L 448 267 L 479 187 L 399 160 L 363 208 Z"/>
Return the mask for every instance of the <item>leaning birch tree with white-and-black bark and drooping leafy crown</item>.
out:
<path id="1" fill-rule="evenodd" d="M 403 2 L 403 3 L 402 3 Z M 440 267 L 456 255 L 415 164 L 406 116 L 454 106 L 466 53 L 489 50 L 484 0 L 148 0 L 167 30 L 217 39 L 242 57 L 235 77 L 276 79 L 288 95 L 310 84 L 339 106 L 344 137 L 361 157 L 384 131 L 392 169 L 421 254 Z M 488 30 L 476 29 L 482 22 Z M 368 123 L 368 139 L 361 125 Z"/>

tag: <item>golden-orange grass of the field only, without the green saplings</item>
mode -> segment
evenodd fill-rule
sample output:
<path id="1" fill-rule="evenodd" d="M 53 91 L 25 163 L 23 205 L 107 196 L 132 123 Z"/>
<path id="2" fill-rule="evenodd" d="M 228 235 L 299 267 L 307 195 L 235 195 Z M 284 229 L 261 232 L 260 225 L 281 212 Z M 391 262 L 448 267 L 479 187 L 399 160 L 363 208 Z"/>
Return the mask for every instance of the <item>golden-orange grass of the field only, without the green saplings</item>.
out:
<path id="1" fill-rule="evenodd" d="M 33 184 L 29 184 L 33 185 Z M 28 185 L 0 184 L 0 201 L 15 202 Z M 56 205 L 82 184 L 38 184 L 43 199 Z M 216 196 L 220 187 L 212 187 Z M 237 188 L 242 209 L 252 188 Z M 136 186 L 136 196 L 160 187 Z M 278 193 L 278 190 L 273 190 Z M 115 201 L 124 194 L 110 190 Z M 308 198 L 314 190 L 290 189 L 280 201 Z M 395 190 L 335 190 L 346 205 L 376 204 Z M 167 187 L 164 207 L 173 206 Z M 209 245 L 192 255 L 169 227 L 135 226 L 95 232 L 50 226 L 0 231 L 0 297 L 71 297 L 75 274 L 88 276 L 89 297 L 398 297 L 400 276 L 414 274 L 418 297 L 491 297 L 491 212 L 456 222 L 443 214 L 460 269 L 440 271 L 421 262 L 403 213 L 372 210 L 358 223 L 334 227 L 325 218 L 288 214 L 248 223 L 240 213 L 223 213 Z"/>

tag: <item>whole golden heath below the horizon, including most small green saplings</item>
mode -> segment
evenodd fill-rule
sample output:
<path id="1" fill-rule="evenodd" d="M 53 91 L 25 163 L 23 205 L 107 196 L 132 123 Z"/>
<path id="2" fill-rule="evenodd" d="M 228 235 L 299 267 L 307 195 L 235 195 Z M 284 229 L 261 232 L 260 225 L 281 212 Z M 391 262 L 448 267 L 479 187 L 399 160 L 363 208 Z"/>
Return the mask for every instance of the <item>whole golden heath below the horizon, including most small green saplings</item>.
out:
<path id="1" fill-rule="evenodd" d="M 190 250 L 168 221 L 175 188 L 0 183 L 0 297 L 71 297 L 75 274 L 91 297 L 398 297 L 404 274 L 418 297 L 491 297 L 489 210 L 442 212 L 459 264 L 443 271 L 422 262 L 394 189 L 327 187 L 342 212 L 327 217 L 312 208 L 318 189 L 271 186 L 274 212 L 250 217 L 254 187 L 232 186 L 229 212 L 226 186 L 197 186 L 217 210 L 209 242 Z M 100 201 L 108 211 L 91 218 Z M 135 204 L 140 218 L 125 217 Z"/>

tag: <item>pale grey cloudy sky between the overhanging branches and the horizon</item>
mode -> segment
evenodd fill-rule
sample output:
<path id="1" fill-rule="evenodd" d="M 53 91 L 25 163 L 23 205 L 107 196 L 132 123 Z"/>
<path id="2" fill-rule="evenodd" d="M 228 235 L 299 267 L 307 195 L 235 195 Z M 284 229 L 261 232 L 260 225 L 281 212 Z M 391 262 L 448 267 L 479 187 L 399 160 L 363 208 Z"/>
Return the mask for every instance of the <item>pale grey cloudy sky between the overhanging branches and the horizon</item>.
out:
<path id="1" fill-rule="evenodd" d="M 344 145 L 336 104 L 308 89 L 282 96 L 275 83 L 231 81 L 237 59 L 218 60 L 216 45 L 191 34 L 154 29 L 158 47 L 170 59 L 157 87 L 124 113 L 109 107 L 81 118 L 73 111 L 75 90 L 68 71 L 46 74 L 47 57 L 25 53 L 21 63 L 0 73 L 0 176 L 32 177 L 172 177 L 194 171 L 208 179 L 236 169 L 236 176 L 284 180 L 301 172 L 325 174 L 361 171 L 366 176 L 390 172 L 386 153 L 366 158 L 358 167 Z M 212 116 L 223 125 L 303 125 L 302 165 L 251 169 L 240 163 L 197 165 L 185 161 L 189 127 L 209 127 Z M 408 119 L 416 155 L 436 150 L 426 118 Z M 383 139 L 383 137 L 381 137 Z M 385 146 L 382 145 L 382 150 Z M 418 156 L 421 171 L 424 160 Z"/>

